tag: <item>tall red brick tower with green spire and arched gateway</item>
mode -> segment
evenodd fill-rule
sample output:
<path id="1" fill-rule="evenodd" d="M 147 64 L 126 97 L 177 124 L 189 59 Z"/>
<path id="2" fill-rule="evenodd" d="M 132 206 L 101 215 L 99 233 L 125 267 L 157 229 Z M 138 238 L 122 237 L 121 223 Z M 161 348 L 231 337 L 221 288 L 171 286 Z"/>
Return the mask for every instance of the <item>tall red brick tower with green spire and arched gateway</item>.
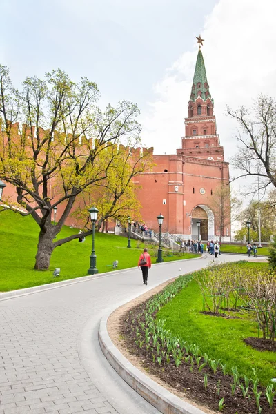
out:
<path id="1" fill-rule="evenodd" d="M 148 227 L 157 230 L 156 216 L 161 212 L 164 232 L 184 239 L 197 239 L 199 232 L 204 240 L 219 237 L 212 196 L 221 183 L 228 184 L 229 166 L 224 161 L 213 108 L 199 47 L 182 148 L 176 155 L 154 155 L 154 170 L 137 177 L 142 187 L 141 214 Z M 230 237 L 230 226 L 223 236 Z"/>

